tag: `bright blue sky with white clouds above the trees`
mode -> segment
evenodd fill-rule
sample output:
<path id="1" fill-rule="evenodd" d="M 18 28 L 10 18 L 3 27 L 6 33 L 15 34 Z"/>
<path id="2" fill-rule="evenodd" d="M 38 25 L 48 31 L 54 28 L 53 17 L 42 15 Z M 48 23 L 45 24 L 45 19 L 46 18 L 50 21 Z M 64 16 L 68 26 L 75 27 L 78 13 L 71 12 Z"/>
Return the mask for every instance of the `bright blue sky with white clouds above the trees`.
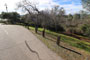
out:
<path id="1" fill-rule="evenodd" d="M 6 12 L 5 3 L 8 6 L 8 11 L 13 12 L 17 11 L 20 14 L 23 14 L 21 10 L 16 10 L 17 6 L 16 4 L 22 0 L 2 0 L 0 1 L 0 13 Z M 29 0 L 34 3 L 38 4 L 38 8 L 40 10 L 44 9 L 51 9 L 54 5 L 59 5 L 60 7 L 63 7 L 66 11 L 66 14 L 74 14 L 78 13 L 80 10 L 83 9 L 81 0 Z"/>

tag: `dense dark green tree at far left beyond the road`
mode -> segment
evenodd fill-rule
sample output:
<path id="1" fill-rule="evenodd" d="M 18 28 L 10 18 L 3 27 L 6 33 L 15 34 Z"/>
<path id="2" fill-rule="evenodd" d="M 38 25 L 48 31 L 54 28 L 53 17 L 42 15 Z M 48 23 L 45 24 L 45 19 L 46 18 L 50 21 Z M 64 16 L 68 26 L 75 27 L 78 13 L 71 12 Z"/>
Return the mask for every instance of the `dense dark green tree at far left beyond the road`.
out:
<path id="1" fill-rule="evenodd" d="M 8 22 L 11 24 L 20 22 L 20 15 L 17 12 L 2 12 L 1 18 L 8 19 Z"/>

